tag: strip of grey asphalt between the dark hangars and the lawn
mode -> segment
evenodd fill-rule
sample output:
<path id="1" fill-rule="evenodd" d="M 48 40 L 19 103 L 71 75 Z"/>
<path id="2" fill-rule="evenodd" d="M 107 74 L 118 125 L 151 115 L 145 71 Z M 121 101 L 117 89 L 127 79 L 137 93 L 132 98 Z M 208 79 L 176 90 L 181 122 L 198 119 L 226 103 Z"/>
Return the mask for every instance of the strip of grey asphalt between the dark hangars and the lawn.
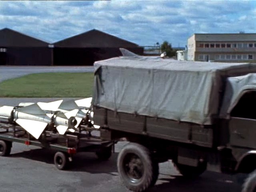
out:
<path id="1" fill-rule="evenodd" d="M 0 82 L 31 73 L 93 71 L 93 66 L 0 66 Z"/>

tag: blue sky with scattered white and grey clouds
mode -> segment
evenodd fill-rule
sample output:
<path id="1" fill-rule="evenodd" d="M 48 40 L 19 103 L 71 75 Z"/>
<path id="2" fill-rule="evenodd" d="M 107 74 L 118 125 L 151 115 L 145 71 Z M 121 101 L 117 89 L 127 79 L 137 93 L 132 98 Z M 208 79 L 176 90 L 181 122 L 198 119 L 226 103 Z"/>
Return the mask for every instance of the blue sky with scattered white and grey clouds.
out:
<path id="1" fill-rule="evenodd" d="M 0 29 L 49 43 L 97 29 L 140 46 L 194 33 L 256 33 L 256 0 L 0 1 Z"/>

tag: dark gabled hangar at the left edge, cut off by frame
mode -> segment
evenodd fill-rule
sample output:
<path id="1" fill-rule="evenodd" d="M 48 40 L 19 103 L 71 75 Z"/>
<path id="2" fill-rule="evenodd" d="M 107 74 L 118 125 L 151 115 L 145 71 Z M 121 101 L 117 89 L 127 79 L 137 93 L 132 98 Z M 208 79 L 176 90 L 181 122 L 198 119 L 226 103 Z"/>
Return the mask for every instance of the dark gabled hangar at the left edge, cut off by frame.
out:
<path id="1" fill-rule="evenodd" d="M 0 65 L 52 65 L 49 43 L 4 28 L 0 30 Z"/>

